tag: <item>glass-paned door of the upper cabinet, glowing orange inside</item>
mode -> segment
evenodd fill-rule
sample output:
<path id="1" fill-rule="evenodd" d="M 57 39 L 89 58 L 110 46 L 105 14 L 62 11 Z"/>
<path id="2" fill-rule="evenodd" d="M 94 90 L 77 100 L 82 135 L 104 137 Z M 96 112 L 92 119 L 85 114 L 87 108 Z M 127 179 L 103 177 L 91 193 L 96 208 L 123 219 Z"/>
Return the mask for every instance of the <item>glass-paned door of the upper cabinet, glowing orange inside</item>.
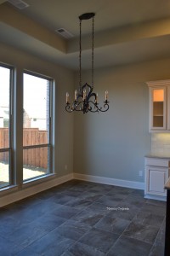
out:
<path id="1" fill-rule="evenodd" d="M 166 88 L 152 88 L 151 129 L 166 129 Z"/>

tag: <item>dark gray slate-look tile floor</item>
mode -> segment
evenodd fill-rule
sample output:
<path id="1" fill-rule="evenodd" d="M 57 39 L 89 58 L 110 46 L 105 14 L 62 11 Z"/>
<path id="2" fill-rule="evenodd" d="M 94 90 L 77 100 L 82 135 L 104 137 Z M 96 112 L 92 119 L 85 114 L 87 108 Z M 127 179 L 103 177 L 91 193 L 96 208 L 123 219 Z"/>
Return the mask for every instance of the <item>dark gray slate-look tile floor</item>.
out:
<path id="1" fill-rule="evenodd" d="M 3 256 L 161 256 L 166 203 L 73 180 L 0 208 Z"/>

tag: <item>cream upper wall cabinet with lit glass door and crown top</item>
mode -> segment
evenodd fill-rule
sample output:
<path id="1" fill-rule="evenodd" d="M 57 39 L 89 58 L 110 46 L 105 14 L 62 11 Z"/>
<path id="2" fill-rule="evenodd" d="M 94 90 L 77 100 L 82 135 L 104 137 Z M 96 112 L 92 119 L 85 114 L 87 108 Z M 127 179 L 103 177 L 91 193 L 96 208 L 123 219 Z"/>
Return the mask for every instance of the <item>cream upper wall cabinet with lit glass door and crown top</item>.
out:
<path id="1" fill-rule="evenodd" d="M 170 132 L 170 80 L 147 84 L 150 90 L 150 131 Z"/>

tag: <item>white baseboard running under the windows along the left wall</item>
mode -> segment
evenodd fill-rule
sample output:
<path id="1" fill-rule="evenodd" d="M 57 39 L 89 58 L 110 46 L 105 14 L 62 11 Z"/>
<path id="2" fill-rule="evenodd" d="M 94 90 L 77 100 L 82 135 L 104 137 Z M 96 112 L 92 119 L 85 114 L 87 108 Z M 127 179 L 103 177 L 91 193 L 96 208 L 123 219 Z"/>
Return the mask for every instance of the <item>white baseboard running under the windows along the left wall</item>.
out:
<path id="1" fill-rule="evenodd" d="M 35 195 L 43 190 L 50 189 L 71 179 L 73 179 L 72 173 L 62 177 L 54 177 L 53 179 L 36 184 L 35 186 L 26 187 L 26 189 L 15 190 L 13 192 L 11 191 L 12 193 L 0 197 L 0 207 L 4 207 L 10 203 L 13 203 L 14 201 L 19 201 L 28 196 Z"/>

